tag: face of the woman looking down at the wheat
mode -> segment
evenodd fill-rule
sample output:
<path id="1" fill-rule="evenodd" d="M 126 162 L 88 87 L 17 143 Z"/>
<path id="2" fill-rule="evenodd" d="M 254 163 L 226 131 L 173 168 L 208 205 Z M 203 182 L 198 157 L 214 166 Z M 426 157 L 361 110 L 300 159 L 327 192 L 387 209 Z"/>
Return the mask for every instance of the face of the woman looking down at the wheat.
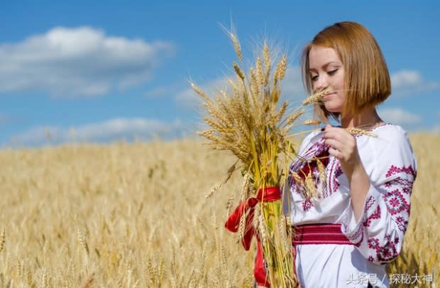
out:
<path id="1" fill-rule="evenodd" d="M 309 73 L 313 90 L 329 88 L 324 105 L 329 112 L 342 112 L 346 100 L 341 58 L 333 48 L 312 46 L 309 51 Z"/>

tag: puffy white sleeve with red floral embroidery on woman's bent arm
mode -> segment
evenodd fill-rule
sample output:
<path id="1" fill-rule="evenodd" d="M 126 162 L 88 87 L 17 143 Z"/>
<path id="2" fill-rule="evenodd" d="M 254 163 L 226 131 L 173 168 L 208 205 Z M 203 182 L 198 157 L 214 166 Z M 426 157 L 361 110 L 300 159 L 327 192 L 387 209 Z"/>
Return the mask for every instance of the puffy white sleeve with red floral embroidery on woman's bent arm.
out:
<path id="1" fill-rule="evenodd" d="M 363 214 L 357 221 L 351 205 L 342 215 L 342 233 L 370 262 L 384 264 L 394 260 L 402 249 L 407 229 L 416 162 L 406 135 L 401 143 L 378 152 L 370 189 L 365 196 Z"/>

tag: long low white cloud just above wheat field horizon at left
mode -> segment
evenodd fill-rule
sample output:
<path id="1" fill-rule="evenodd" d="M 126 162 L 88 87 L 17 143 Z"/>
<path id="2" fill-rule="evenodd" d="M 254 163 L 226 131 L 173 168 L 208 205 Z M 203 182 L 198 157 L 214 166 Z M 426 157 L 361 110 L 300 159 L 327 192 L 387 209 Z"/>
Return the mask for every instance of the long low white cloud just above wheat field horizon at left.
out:
<path id="1" fill-rule="evenodd" d="M 15 144 L 62 144 L 65 142 L 109 142 L 116 139 L 166 137 L 181 128 L 180 121 L 173 123 L 143 118 L 116 118 L 77 127 L 34 127 L 14 135 Z"/>

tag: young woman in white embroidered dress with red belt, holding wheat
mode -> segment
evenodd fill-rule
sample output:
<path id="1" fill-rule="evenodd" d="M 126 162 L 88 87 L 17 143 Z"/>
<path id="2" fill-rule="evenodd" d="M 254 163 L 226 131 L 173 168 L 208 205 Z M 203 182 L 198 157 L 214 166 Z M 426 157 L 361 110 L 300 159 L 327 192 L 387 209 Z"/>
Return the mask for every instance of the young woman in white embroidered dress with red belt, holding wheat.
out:
<path id="1" fill-rule="evenodd" d="M 302 73 L 308 92 L 327 91 L 315 115 L 339 125 L 309 134 L 290 166 L 284 202 L 297 279 L 389 287 L 385 265 L 402 249 L 417 167 L 407 133 L 376 112 L 391 92 L 383 55 L 365 27 L 335 23 L 304 48 Z"/>

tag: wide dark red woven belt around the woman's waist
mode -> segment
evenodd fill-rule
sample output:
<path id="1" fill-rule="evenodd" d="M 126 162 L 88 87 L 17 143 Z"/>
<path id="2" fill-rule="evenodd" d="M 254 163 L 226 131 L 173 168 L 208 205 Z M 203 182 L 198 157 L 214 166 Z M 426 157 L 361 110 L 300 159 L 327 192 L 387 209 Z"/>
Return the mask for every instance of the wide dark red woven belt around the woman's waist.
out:
<path id="1" fill-rule="evenodd" d="M 354 245 L 341 232 L 341 224 L 306 224 L 295 226 L 293 245 L 336 244 Z"/>

